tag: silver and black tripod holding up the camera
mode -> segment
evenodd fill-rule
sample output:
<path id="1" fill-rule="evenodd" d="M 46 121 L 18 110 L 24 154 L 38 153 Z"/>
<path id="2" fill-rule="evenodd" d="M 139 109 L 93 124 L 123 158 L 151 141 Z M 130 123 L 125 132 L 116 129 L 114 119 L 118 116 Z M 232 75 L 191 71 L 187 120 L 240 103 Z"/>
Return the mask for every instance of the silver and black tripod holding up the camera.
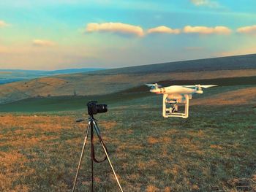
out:
<path id="1" fill-rule="evenodd" d="M 80 119 L 77 120 L 77 122 L 81 122 L 83 120 L 85 120 L 85 119 L 80 118 Z M 99 160 L 97 160 L 97 158 L 95 158 L 95 154 L 94 154 L 94 130 L 96 131 L 97 137 L 99 138 L 99 142 L 102 145 L 102 148 L 103 148 L 104 153 L 105 153 L 105 158 L 102 161 L 99 161 Z M 79 163 L 78 163 L 78 169 L 77 169 L 77 172 L 75 174 L 75 181 L 74 181 L 72 192 L 75 191 L 75 185 L 76 185 L 77 180 L 78 180 L 78 174 L 79 174 L 79 170 L 80 170 L 80 166 L 81 166 L 81 161 L 83 159 L 83 153 L 84 153 L 84 150 L 85 150 L 85 147 L 86 147 L 86 140 L 87 140 L 87 137 L 89 135 L 89 131 L 91 131 L 91 191 L 94 191 L 94 161 L 97 162 L 97 163 L 101 163 L 101 162 L 105 161 L 106 159 L 108 159 L 108 163 L 110 164 L 112 172 L 116 177 L 116 182 L 118 183 L 120 191 L 123 192 L 123 189 L 121 188 L 121 185 L 118 181 L 118 177 L 116 176 L 116 172 L 113 169 L 110 158 L 108 156 L 107 147 L 105 146 L 105 143 L 103 142 L 102 137 L 100 136 L 99 127 L 98 127 L 97 122 L 95 121 L 93 115 L 90 115 L 90 117 L 89 117 L 89 123 L 88 123 L 88 127 L 87 127 L 87 130 L 86 130 L 86 136 L 85 136 L 84 141 L 83 141 L 83 148 L 82 148 L 82 152 L 81 152 L 81 155 L 80 155 L 80 160 L 79 160 Z"/>

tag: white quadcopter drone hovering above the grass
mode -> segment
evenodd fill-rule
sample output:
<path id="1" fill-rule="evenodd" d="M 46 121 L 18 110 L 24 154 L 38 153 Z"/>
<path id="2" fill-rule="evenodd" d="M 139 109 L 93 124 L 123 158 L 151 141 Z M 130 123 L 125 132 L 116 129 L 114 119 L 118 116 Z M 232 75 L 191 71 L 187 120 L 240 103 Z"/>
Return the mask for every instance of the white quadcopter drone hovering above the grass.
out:
<path id="1" fill-rule="evenodd" d="M 217 85 L 171 85 L 161 88 L 157 83 L 146 84 L 151 93 L 163 94 L 162 116 L 164 118 L 188 118 L 189 99 L 193 94 L 202 94 L 203 88 L 211 88 Z M 178 104 L 184 104 L 184 112 L 178 112 Z"/>

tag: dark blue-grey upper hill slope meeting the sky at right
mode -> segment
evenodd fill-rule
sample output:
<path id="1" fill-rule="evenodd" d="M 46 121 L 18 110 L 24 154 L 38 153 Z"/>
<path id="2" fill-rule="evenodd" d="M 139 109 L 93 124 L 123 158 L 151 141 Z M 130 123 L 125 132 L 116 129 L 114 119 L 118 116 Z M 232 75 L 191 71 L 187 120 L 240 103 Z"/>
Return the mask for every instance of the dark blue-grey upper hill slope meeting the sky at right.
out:
<path id="1" fill-rule="evenodd" d="M 130 66 L 118 69 L 108 69 L 95 74 L 135 74 L 135 73 L 166 73 L 166 72 L 196 72 L 232 69 L 256 69 L 256 54 L 236 55 L 221 58 L 204 58 L 190 61 L 176 61 L 164 64 Z M 93 72 L 94 73 L 94 72 Z"/>

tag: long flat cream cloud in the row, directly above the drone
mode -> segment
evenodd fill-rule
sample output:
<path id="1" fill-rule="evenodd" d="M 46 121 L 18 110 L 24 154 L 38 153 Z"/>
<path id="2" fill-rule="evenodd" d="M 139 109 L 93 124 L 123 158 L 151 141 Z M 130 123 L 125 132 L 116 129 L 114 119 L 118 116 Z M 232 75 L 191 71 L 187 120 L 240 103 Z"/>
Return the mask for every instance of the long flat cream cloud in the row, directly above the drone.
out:
<path id="1" fill-rule="evenodd" d="M 185 26 L 183 29 L 184 33 L 194 34 L 230 34 L 230 28 L 225 26 L 206 27 L 206 26 Z"/>

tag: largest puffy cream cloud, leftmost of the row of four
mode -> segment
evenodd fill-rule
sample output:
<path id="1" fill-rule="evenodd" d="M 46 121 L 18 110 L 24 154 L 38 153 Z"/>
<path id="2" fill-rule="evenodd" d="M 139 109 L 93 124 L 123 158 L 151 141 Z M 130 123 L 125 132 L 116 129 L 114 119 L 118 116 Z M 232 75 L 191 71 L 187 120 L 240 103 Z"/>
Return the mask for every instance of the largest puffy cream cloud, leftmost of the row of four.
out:
<path id="1" fill-rule="evenodd" d="M 140 26 L 132 26 L 126 23 L 88 23 L 86 32 L 105 31 L 121 34 L 135 34 L 143 37 L 143 28 Z"/>

